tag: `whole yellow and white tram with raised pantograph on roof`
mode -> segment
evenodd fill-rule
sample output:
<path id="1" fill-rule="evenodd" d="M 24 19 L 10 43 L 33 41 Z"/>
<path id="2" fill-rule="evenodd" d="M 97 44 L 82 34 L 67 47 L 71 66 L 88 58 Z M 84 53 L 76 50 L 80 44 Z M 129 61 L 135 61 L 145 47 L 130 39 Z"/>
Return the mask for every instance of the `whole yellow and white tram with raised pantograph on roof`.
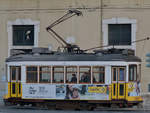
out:
<path id="1" fill-rule="evenodd" d="M 52 29 L 74 15 L 80 16 L 81 12 L 70 10 L 46 28 L 65 44 L 63 51 L 33 48 L 30 53 L 6 59 L 6 105 L 95 108 L 129 107 L 142 102 L 141 59 L 131 50 L 112 48 L 86 53 Z"/>

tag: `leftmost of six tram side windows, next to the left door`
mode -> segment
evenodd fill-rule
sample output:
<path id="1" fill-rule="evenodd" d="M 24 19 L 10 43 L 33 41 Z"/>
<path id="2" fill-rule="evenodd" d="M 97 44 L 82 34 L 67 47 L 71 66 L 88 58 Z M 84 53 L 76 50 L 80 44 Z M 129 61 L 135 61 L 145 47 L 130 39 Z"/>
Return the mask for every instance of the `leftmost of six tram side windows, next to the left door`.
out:
<path id="1" fill-rule="evenodd" d="M 38 78 L 38 68 L 37 66 L 29 66 L 26 68 L 27 73 L 27 83 L 37 83 Z"/>

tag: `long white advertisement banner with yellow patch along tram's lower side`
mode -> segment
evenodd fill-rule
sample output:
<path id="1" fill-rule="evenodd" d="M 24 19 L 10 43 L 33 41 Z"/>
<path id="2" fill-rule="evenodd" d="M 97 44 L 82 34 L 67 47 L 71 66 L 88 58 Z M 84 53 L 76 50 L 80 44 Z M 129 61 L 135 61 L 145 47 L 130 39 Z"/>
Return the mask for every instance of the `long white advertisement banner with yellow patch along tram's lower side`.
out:
<path id="1" fill-rule="evenodd" d="M 23 84 L 23 98 L 109 100 L 107 85 Z"/>

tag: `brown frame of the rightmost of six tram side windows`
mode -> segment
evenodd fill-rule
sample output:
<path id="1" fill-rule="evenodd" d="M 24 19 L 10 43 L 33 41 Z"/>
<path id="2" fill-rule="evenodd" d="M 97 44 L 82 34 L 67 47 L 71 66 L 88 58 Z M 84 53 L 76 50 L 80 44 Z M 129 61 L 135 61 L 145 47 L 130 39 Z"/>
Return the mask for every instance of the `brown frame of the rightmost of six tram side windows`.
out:
<path id="1" fill-rule="evenodd" d="M 104 69 L 104 71 L 102 72 L 102 71 L 99 71 L 99 72 L 94 72 L 94 69 L 93 68 L 103 68 Z M 94 80 L 94 73 L 103 73 L 104 74 L 104 82 L 94 82 L 93 80 Z M 93 81 L 93 84 L 105 84 L 105 66 L 93 66 L 92 67 L 92 81 Z"/>

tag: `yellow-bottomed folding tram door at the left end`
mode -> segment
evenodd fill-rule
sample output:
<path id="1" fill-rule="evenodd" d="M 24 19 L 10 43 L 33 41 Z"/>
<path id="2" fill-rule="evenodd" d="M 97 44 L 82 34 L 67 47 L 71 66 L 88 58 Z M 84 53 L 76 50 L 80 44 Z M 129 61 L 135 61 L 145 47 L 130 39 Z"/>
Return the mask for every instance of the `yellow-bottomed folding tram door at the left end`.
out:
<path id="1" fill-rule="evenodd" d="M 21 67 L 10 67 L 10 92 L 11 97 L 21 97 Z"/>

